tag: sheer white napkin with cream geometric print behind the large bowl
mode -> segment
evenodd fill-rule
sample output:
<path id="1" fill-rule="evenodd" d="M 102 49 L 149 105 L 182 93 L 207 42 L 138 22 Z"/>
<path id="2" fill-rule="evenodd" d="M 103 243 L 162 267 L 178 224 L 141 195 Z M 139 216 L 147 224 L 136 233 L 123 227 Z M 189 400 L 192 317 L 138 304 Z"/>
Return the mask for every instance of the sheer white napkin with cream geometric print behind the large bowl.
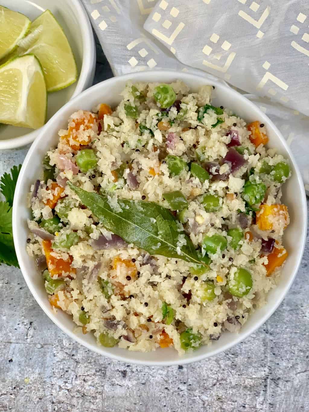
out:
<path id="1" fill-rule="evenodd" d="M 287 139 L 309 193 L 307 0 L 82 2 L 115 75 L 203 70 L 250 93 Z"/>

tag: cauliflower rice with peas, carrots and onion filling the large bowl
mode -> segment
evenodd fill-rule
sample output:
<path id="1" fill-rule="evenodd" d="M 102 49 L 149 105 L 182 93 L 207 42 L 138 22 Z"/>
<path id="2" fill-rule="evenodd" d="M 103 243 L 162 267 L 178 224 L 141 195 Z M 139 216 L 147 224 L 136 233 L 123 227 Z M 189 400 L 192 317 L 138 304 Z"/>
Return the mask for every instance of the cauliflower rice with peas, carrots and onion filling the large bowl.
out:
<path id="1" fill-rule="evenodd" d="M 28 254 L 54 310 L 99 345 L 182 355 L 239 331 L 276 286 L 290 167 L 213 89 L 127 84 L 116 108 L 73 113 L 44 157 Z"/>

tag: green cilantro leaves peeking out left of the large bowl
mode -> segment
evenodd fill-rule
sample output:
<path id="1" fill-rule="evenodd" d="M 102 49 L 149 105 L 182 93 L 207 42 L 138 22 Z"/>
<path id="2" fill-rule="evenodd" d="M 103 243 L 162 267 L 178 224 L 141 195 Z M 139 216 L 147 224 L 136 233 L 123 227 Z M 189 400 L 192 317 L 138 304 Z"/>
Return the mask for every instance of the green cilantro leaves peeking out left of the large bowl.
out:
<path id="1" fill-rule="evenodd" d="M 0 264 L 19 267 L 15 253 L 12 230 L 12 206 L 17 178 L 21 169 L 14 166 L 11 173 L 4 173 L 0 179 L 0 192 L 5 201 L 0 201 Z"/>

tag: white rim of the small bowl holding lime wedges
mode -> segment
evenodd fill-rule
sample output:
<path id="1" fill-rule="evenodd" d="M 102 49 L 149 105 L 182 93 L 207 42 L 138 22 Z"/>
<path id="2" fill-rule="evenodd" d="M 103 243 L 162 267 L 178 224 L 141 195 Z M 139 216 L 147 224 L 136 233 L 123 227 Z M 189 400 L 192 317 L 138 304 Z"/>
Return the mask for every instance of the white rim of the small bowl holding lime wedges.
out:
<path id="1" fill-rule="evenodd" d="M 70 3 L 74 6 L 76 16 L 80 21 L 83 44 L 82 68 L 80 70 L 80 75 L 76 83 L 74 93 L 70 98 L 70 100 L 72 100 L 84 89 L 86 89 L 94 80 L 94 72 L 96 68 L 96 47 L 91 23 L 84 6 L 79 0 L 70 0 Z M 40 129 L 30 131 L 22 136 L 0 140 L 0 150 L 15 149 L 17 147 L 28 145 L 28 143 L 32 143 L 35 138 L 40 135 L 46 125 L 47 123 L 40 127 Z"/>

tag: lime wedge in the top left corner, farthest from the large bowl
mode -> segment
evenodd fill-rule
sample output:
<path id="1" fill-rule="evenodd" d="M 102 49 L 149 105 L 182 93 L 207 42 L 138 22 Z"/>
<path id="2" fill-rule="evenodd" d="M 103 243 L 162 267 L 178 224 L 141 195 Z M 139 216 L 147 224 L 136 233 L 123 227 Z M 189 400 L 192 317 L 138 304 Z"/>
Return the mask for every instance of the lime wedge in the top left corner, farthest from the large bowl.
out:
<path id="1" fill-rule="evenodd" d="M 21 13 L 0 6 L 0 60 L 11 53 L 29 30 L 31 21 Z"/>

